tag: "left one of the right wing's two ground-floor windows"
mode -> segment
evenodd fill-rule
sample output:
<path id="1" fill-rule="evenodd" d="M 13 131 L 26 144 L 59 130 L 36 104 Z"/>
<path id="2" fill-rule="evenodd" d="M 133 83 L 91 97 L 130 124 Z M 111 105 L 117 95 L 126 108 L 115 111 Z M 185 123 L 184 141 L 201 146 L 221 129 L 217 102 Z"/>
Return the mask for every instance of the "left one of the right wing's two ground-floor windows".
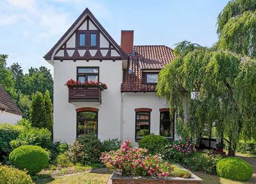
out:
<path id="1" fill-rule="evenodd" d="M 135 139 L 140 139 L 150 133 L 150 112 L 136 112 Z"/>

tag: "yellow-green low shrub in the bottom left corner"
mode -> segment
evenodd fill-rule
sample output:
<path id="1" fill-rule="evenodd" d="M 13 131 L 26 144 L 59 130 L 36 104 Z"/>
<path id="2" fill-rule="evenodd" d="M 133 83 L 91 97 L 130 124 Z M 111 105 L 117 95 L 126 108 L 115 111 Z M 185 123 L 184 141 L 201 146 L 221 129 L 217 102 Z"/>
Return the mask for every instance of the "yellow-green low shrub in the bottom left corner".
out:
<path id="1" fill-rule="evenodd" d="M 0 165 L 0 184 L 33 184 L 33 181 L 24 170 Z"/>

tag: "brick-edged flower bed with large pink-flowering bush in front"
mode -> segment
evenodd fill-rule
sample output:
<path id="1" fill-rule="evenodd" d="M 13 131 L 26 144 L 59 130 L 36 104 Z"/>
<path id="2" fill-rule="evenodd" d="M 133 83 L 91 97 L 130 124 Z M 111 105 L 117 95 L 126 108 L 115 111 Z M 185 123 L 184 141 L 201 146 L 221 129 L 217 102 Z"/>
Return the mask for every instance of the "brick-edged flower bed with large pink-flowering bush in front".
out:
<path id="1" fill-rule="evenodd" d="M 102 153 L 100 160 L 113 170 L 111 177 L 113 184 L 138 183 L 166 183 L 173 180 L 179 182 L 189 181 L 195 183 L 194 176 L 186 169 L 181 169 L 175 165 L 170 165 L 158 155 L 151 155 L 147 149 L 131 146 L 132 142 L 125 140 L 121 148 L 117 151 Z M 200 178 L 197 181 L 200 181 Z M 159 181 L 159 182 L 158 182 Z M 161 181 L 161 182 L 160 182 Z M 196 182 L 197 182 L 196 181 Z M 184 184 L 192 184 L 192 183 Z M 168 182 L 167 182 L 168 183 Z M 167 184 L 166 183 L 166 184 Z M 175 183 L 175 184 L 176 184 Z M 183 184 L 181 183 L 181 184 Z"/>

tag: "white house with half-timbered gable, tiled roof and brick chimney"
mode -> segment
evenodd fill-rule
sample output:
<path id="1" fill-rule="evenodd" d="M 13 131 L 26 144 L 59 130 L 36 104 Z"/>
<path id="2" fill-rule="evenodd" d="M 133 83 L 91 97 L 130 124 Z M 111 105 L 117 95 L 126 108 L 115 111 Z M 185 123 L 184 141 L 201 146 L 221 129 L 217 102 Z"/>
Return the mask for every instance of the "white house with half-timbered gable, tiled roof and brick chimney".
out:
<path id="1" fill-rule="evenodd" d="M 53 137 L 66 143 L 86 133 L 100 140 L 138 142 L 154 133 L 177 139 L 169 104 L 156 94 L 158 73 L 174 58 L 167 46 L 134 46 L 121 31 L 121 46 L 86 8 L 44 56 L 54 67 Z M 68 80 L 107 84 L 67 87 Z"/>

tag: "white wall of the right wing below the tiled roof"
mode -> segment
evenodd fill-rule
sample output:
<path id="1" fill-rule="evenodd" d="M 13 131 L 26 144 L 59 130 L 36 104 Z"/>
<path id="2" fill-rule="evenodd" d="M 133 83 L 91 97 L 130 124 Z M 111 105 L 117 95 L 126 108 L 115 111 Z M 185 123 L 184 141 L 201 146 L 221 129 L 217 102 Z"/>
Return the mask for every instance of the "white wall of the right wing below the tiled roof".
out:
<path id="1" fill-rule="evenodd" d="M 160 129 L 160 108 L 169 107 L 165 99 L 157 96 L 156 92 L 125 92 L 123 107 L 123 140 L 129 139 L 135 143 L 135 108 L 151 108 L 150 113 L 150 133 L 159 135 Z M 174 122 L 175 126 L 176 122 Z M 174 139 L 177 136 L 174 135 Z"/>

